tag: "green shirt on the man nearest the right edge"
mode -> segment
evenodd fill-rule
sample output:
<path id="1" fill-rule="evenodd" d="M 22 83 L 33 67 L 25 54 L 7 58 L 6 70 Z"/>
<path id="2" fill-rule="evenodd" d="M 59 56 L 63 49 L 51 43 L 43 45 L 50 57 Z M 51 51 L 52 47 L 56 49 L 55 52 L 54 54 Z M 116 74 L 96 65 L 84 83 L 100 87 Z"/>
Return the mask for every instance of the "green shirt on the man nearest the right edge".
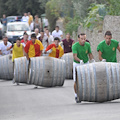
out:
<path id="1" fill-rule="evenodd" d="M 117 62 L 116 59 L 116 49 L 118 47 L 118 41 L 117 40 L 111 40 L 111 44 L 107 45 L 105 40 L 100 42 L 100 44 L 97 47 L 97 51 L 102 52 L 102 58 L 106 59 L 106 62 Z"/>

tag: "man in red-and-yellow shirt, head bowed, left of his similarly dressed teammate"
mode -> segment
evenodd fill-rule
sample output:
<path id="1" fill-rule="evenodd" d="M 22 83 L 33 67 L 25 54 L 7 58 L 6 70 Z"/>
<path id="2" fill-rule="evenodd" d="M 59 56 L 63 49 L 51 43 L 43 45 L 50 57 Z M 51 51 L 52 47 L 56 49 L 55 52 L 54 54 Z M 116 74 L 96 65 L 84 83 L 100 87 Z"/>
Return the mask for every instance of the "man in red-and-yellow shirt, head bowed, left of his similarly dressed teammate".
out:
<path id="1" fill-rule="evenodd" d="M 26 44 L 24 50 L 27 59 L 29 60 L 31 57 L 41 56 L 42 50 L 44 49 L 42 43 L 36 39 L 36 35 L 31 35 L 31 40 Z"/>

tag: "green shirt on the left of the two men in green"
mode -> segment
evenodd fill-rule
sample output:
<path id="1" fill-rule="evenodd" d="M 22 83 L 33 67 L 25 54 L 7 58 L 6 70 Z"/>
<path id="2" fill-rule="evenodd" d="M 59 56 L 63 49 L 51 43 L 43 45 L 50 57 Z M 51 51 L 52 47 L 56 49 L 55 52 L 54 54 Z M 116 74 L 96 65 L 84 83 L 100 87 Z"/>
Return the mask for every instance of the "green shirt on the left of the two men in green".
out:
<path id="1" fill-rule="evenodd" d="M 88 42 L 85 42 L 84 46 L 81 46 L 79 42 L 76 42 L 72 46 L 72 52 L 73 54 L 77 54 L 77 57 L 80 60 L 83 60 L 84 63 L 88 62 L 88 54 L 91 53 L 91 47 Z M 79 63 L 78 61 L 75 61 L 76 63 Z"/>

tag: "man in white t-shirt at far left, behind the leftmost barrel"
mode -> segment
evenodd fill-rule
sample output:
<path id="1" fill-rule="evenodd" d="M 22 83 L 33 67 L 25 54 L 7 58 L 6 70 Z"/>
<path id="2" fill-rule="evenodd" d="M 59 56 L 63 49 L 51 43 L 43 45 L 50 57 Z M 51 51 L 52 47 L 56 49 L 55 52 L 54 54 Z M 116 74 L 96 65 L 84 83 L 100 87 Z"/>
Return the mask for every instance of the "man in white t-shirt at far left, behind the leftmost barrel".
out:
<path id="1" fill-rule="evenodd" d="M 12 46 L 12 44 L 8 42 L 8 38 L 6 36 L 3 37 L 3 41 L 0 42 L 0 56 L 11 54 L 12 50 L 7 51 L 7 48 L 10 46 Z"/>

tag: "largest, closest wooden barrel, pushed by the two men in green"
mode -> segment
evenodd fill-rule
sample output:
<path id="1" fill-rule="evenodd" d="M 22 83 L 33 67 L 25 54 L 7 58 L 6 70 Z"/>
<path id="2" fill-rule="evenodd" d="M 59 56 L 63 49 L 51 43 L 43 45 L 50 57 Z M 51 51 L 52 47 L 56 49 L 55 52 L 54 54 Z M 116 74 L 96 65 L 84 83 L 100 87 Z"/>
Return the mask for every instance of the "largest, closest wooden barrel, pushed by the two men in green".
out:
<path id="1" fill-rule="evenodd" d="M 120 98 L 120 64 L 97 62 L 78 66 L 77 94 L 80 101 L 106 102 Z"/>

